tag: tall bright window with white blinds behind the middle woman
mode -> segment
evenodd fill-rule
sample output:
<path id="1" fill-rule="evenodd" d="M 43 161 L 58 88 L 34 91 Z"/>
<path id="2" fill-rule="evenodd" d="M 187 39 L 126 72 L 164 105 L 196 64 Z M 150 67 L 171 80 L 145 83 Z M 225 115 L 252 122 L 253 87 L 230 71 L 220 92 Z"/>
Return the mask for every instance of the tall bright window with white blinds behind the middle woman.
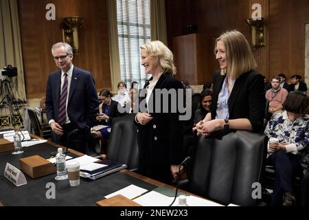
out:
<path id="1" fill-rule="evenodd" d="M 121 79 L 128 89 L 133 81 L 143 88 L 150 76 L 141 66 L 139 47 L 150 42 L 150 0 L 117 0 L 117 29 Z"/>

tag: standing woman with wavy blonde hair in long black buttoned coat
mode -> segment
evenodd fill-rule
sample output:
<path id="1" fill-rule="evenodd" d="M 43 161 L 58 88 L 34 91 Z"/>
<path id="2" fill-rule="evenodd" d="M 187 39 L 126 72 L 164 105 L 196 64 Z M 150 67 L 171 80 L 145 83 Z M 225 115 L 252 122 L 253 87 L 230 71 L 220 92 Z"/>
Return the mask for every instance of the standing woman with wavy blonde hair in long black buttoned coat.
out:
<path id="1" fill-rule="evenodd" d="M 173 77 L 173 54 L 161 41 L 141 46 L 141 65 L 152 77 L 139 94 L 139 113 L 135 117 L 139 172 L 170 184 L 183 160 L 183 122 L 174 102 L 183 85 Z M 176 97 L 168 96 L 169 92 Z M 174 107 L 176 111 L 172 111 Z"/>

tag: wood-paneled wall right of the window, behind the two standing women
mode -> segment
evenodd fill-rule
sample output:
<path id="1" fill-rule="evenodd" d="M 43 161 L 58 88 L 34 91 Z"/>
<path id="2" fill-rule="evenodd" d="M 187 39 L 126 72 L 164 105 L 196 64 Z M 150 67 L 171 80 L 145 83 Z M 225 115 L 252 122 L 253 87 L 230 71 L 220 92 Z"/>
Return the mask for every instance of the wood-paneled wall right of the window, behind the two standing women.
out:
<path id="1" fill-rule="evenodd" d="M 294 73 L 304 76 L 308 0 L 165 0 L 168 46 L 172 49 L 174 36 L 187 34 L 187 23 L 198 25 L 197 32 L 207 36 L 209 48 L 205 72 L 212 75 L 219 68 L 213 50 L 216 37 L 226 30 L 237 29 L 251 42 L 250 28 L 244 20 L 251 17 L 253 3 L 262 5 L 266 20 L 266 47 L 254 52 L 258 71 L 267 78 L 280 72 L 288 80 Z"/>

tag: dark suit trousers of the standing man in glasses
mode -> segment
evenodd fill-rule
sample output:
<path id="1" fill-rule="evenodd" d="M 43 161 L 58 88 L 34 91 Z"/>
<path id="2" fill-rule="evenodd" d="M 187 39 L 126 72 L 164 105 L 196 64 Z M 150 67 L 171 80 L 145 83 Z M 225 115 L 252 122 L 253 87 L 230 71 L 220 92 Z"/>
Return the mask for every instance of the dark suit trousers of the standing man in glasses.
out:
<path id="1" fill-rule="evenodd" d="M 71 123 L 62 126 L 64 135 L 54 134 L 54 142 L 62 146 L 68 146 L 80 153 L 88 153 L 89 129 L 79 129 L 76 133 L 71 133 L 76 129 Z M 71 134 L 70 134 L 71 133 Z M 68 137 L 69 135 L 69 137 Z"/>

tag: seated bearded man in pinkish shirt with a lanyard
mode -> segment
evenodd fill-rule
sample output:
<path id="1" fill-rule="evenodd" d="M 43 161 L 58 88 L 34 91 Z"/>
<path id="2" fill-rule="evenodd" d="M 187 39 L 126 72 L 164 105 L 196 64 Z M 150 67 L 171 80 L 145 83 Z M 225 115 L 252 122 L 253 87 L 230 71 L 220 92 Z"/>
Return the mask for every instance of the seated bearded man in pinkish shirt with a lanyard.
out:
<path id="1" fill-rule="evenodd" d="M 286 100 L 286 96 L 288 96 L 288 91 L 280 87 L 279 76 L 274 76 L 271 79 L 271 86 L 272 88 L 266 91 L 265 97 L 269 100 L 268 113 L 273 115 L 283 111 L 282 104 Z"/>

